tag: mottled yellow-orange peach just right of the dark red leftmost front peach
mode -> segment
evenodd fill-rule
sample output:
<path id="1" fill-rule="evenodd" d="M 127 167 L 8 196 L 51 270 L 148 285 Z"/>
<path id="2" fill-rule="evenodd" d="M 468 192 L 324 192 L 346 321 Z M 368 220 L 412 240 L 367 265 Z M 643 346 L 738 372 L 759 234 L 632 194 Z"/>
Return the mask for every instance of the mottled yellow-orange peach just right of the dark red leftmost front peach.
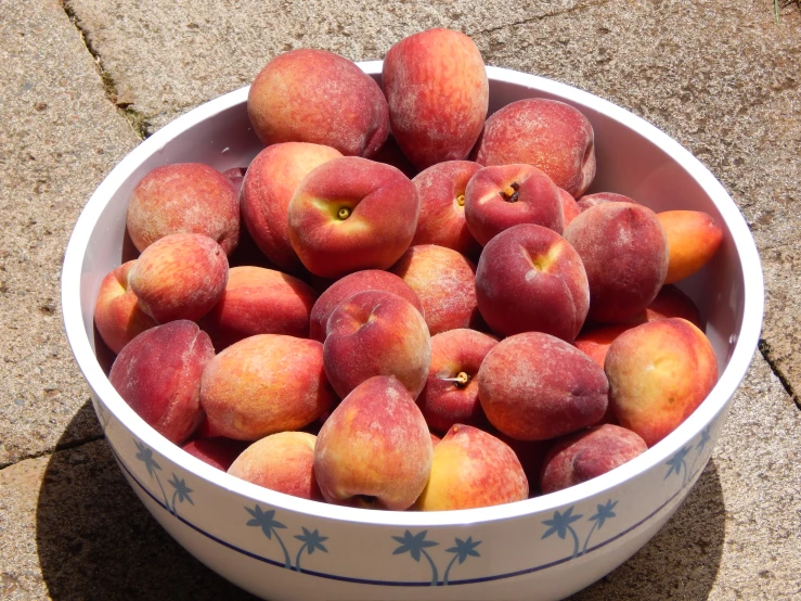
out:
<path id="1" fill-rule="evenodd" d="M 201 382 L 208 427 L 236 440 L 299 430 L 335 400 L 323 371 L 323 345 L 282 334 L 259 334 L 229 346 Z"/>

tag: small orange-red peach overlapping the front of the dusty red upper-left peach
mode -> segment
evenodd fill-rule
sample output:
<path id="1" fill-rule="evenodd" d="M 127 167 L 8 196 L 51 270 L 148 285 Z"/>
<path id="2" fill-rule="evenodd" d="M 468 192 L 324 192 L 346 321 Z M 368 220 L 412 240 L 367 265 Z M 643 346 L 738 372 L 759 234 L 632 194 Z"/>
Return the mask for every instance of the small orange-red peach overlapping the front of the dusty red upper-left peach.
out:
<path id="1" fill-rule="evenodd" d="M 140 308 L 159 323 L 202 318 L 220 299 L 227 282 L 225 253 L 199 233 L 173 233 L 157 240 L 128 272 Z"/>

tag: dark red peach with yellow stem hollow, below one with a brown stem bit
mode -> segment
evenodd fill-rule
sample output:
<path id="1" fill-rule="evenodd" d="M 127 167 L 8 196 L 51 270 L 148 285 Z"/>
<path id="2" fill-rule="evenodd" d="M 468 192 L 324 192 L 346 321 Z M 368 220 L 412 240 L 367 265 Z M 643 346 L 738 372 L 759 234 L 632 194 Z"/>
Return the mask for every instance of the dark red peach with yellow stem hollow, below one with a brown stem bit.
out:
<path id="1" fill-rule="evenodd" d="M 572 341 L 590 307 L 584 265 L 553 230 L 524 223 L 501 232 L 481 253 L 476 298 L 502 335 L 545 332 Z"/>

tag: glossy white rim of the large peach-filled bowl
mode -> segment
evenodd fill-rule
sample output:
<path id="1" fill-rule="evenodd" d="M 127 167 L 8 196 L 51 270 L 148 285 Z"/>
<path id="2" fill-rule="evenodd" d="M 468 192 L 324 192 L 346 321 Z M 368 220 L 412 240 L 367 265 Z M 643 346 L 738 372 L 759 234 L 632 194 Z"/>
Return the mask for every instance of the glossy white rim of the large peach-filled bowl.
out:
<path id="1" fill-rule="evenodd" d="M 378 76 L 382 73 L 383 61 L 359 62 L 357 65 L 366 74 Z M 327 504 L 262 488 L 207 465 L 199 459 L 190 456 L 179 446 L 168 442 L 148 426 L 128 407 L 112 386 L 98 362 L 92 350 L 91 341 L 85 330 L 79 282 L 81 281 L 81 271 L 90 234 L 107 206 L 112 194 L 117 189 L 118 182 L 127 179 L 139 164 L 158 152 L 159 149 L 163 149 L 179 133 L 223 111 L 246 102 L 249 87 L 240 88 L 193 108 L 141 142 L 106 176 L 81 212 L 64 256 L 61 279 L 62 317 L 67 342 L 92 392 L 99 398 L 103 399 L 102 402 L 143 444 L 150 446 L 162 457 L 182 466 L 208 484 L 273 508 L 302 513 L 316 519 L 357 524 L 396 527 L 478 525 L 552 512 L 561 507 L 585 501 L 608 489 L 624 484 L 626 481 L 651 470 L 660 463 L 666 463 L 673 453 L 690 440 L 725 408 L 745 378 L 755 353 L 764 311 L 764 283 L 754 240 L 737 205 L 715 177 L 689 151 L 645 119 L 599 97 L 537 75 L 495 66 L 487 66 L 487 75 L 490 80 L 529 88 L 534 92 L 532 95 L 535 95 L 538 92 L 553 94 L 571 104 L 578 105 L 580 108 L 585 106 L 592 111 L 603 113 L 608 118 L 644 136 L 659 146 L 673 161 L 679 163 L 698 182 L 723 217 L 732 234 L 732 241 L 736 247 L 736 252 L 741 260 L 741 277 L 745 290 L 742 324 L 728 365 L 721 373 L 714 388 L 701 406 L 675 431 L 649 448 L 647 452 L 636 457 L 624 465 L 557 493 L 488 508 L 440 512 L 403 512 L 375 511 Z"/>

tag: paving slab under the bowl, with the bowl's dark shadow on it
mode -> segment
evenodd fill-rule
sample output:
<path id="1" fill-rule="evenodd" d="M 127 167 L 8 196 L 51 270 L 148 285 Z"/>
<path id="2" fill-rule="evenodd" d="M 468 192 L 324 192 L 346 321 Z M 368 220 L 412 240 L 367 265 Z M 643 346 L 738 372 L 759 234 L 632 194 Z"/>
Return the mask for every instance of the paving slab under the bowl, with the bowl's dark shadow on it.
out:
<path id="1" fill-rule="evenodd" d="M 685 503 L 574 599 L 798 598 L 799 463 L 801 413 L 758 356 Z M 251 599 L 172 541 L 103 440 L 0 471 L 0 553 L 2 599 Z"/>

